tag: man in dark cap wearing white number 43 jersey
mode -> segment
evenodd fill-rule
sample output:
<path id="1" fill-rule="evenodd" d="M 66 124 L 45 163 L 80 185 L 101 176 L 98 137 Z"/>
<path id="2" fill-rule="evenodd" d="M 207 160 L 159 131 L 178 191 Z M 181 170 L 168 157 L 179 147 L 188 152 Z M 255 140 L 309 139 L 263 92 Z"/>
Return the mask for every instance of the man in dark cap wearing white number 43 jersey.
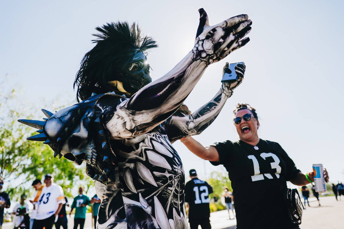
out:
<path id="1" fill-rule="evenodd" d="M 37 204 L 37 213 L 33 222 L 34 229 L 52 229 L 54 222 L 57 219 L 58 213 L 65 203 L 62 187 L 54 184 L 54 176 L 46 174 L 44 176 L 44 183 L 34 199 L 34 204 Z"/>

